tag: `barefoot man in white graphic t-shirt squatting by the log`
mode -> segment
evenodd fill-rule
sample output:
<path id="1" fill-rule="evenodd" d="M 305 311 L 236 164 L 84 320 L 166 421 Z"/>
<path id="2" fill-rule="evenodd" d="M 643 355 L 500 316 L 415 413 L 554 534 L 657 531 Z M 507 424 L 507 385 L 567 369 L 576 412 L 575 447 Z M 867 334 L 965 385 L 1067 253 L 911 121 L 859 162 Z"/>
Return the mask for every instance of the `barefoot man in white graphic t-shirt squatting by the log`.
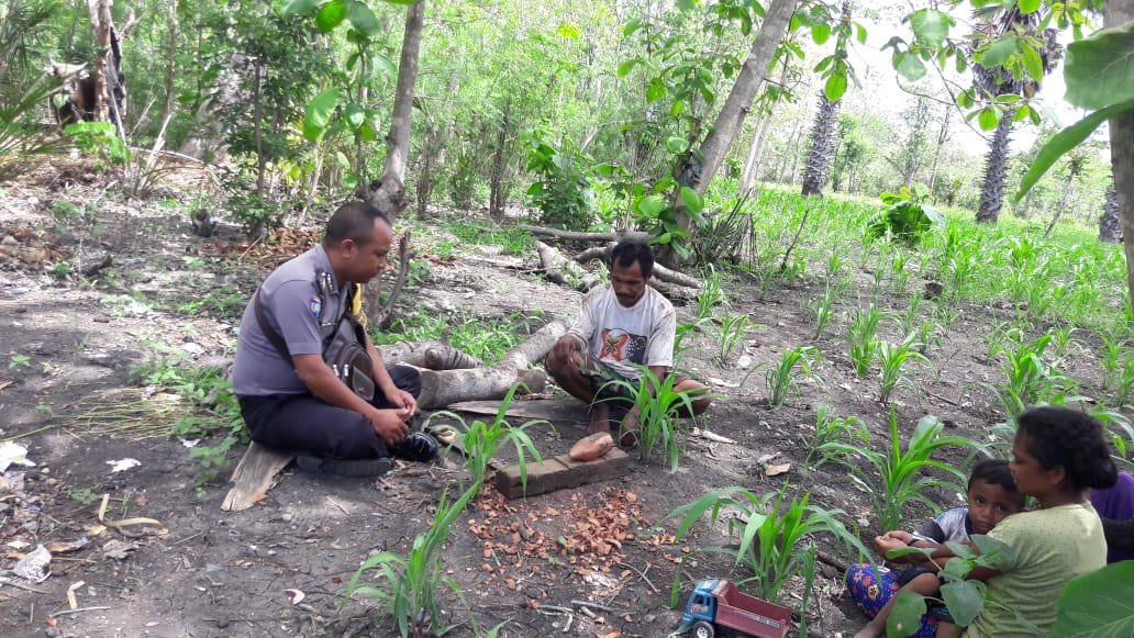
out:
<path id="1" fill-rule="evenodd" d="M 627 408 L 619 441 L 627 446 L 637 441 L 634 392 L 608 382 L 621 378 L 636 384 L 643 376 L 636 366 L 665 380 L 674 365 L 677 315 L 661 292 L 646 286 L 652 273 L 653 252 L 649 245 L 626 240 L 615 246 L 610 283 L 583 298 L 578 322 L 556 342 L 545 361 L 564 390 L 591 405 L 590 432 L 610 432 L 611 408 Z M 674 390 L 696 397 L 708 388 L 677 375 Z M 650 391 L 654 391 L 652 384 Z M 692 401 L 692 414 L 703 412 L 710 401 L 708 397 Z"/>

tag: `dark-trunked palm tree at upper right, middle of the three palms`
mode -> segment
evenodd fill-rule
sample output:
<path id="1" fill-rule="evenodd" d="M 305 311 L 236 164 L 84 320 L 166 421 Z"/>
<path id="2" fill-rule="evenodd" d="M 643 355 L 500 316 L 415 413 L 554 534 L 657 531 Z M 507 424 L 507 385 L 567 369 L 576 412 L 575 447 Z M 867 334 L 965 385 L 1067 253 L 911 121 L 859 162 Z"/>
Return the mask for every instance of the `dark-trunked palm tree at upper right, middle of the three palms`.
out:
<path id="1" fill-rule="evenodd" d="M 1017 37 L 1040 39 L 1043 45 L 1038 52 L 1043 60 L 1043 75 L 1051 73 L 1051 69 L 1063 58 L 1063 45 L 1056 41 L 1055 29 L 1036 31 L 1040 24 L 1040 12 L 1023 14 L 1019 5 L 1015 3 L 1010 9 L 1005 9 L 1000 5 L 988 5 L 975 11 L 976 19 L 983 25 L 974 34 L 973 49 L 982 44 L 992 42 L 1005 35 Z M 973 65 L 973 78 L 976 87 L 985 99 L 1000 95 L 1023 95 L 1032 96 L 1039 91 L 1040 85 L 1033 79 L 1015 78 L 1009 69 L 1004 67 L 984 68 L 981 65 Z M 989 141 L 989 154 L 984 160 L 984 181 L 981 185 L 981 205 L 976 211 L 976 221 L 996 222 L 1004 205 L 1005 177 L 1008 173 L 1008 138 L 1012 134 L 1012 119 L 1014 110 L 1006 109 L 1000 116 L 1000 122 Z"/>

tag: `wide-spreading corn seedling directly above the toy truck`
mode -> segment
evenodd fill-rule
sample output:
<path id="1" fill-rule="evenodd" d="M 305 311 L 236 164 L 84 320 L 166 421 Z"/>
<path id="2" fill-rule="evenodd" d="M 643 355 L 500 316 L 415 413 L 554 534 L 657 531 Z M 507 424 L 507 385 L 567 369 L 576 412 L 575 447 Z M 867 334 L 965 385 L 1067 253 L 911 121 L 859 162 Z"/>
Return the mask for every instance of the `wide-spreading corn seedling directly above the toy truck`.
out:
<path id="1" fill-rule="evenodd" d="M 753 577 L 739 584 L 751 582 L 754 594 L 767 601 L 778 601 L 784 585 L 797 575 L 804 575 L 811 563 L 812 535 L 831 534 L 838 541 L 866 552 L 866 548 L 837 517 L 843 510 L 826 510 L 810 505 L 810 493 L 788 502 L 787 483 L 779 492 L 758 496 L 743 487 L 726 487 L 710 492 L 693 503 L 682 505 L 666 514 L 659 526 L 670 519 L 679 519 L 674 537 L 680 541 L 705 512 L 710 525 L 717 524 L 723 510 L 734 514 L 728 519 L 728 534 L 739 543 L 727 547 L 704 547 L 696 553 L 711 552 L 735 556 L 737 565 L 747 568 Z M 682 567 L 678 565 L 670 592 L 670 603 L 677 603 L 682 585 Z"/>

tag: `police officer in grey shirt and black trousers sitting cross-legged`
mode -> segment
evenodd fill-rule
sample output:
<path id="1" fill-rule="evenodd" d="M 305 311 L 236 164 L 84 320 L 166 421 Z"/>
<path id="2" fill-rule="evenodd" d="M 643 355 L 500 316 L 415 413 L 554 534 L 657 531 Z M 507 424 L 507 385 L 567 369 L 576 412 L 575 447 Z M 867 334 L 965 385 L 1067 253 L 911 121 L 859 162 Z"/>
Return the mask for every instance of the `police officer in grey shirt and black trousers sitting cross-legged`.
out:
<path id="1" fill-rule="evenodd" d="M 365 338 L 374 382 L 367 401 L 322 357 L 347 311 L 349 284 L 378 275 L 392 241 L 381 211 L 347 204 L 331 216 L 322 244 L 272 272 L 244 311 L 232 368 L 240 412 L 253 441 L 298 453 L 305 469 L 373 476 L 391 467 L 391 452 L 435 452 L 435 442 L 421 449 L 430 446 L 428 435 L 407 439 L 421 393 L 416 369 L 386 366 Z"/>

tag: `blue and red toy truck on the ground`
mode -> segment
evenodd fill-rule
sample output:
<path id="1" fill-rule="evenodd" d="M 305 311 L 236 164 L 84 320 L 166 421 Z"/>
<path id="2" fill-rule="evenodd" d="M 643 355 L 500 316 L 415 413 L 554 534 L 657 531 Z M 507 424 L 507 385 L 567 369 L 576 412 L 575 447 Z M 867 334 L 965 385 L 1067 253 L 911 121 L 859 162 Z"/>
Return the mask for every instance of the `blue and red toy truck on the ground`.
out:
<path id="1" fill-rule="evenodd" d="M 720 627 L 756 638 L 784 638 L 792 610 L 743 594 L 731 580 L 702 580 L 689 596 L 678 632 L 689 627 L 695 638 L 713 638 Z"/>

